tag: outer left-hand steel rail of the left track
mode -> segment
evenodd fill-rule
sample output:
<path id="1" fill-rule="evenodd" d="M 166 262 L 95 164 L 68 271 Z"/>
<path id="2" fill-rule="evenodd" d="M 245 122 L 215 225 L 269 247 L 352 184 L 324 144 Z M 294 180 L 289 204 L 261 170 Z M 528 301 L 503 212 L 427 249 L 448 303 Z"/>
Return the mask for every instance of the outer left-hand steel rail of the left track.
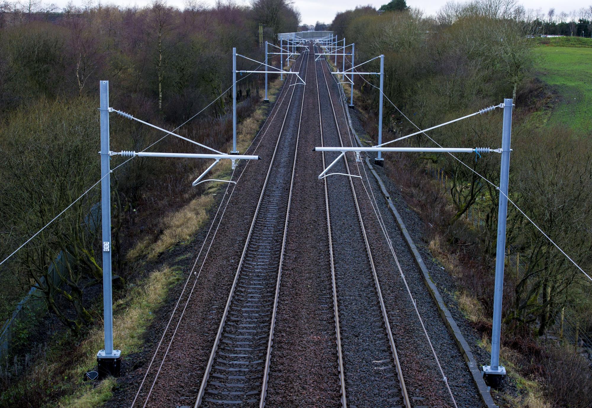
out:
<path id="1" fill-rule="evenodd" d="M 300 65 L 302 65 L 302 62 L 300 63 Z M 287 88 L 287 89 L 289 89 L 289 88 Z M 258 200 L 257 206 L 255 208 L 255 213 L 253 214 L 253 219 L 251 221 L 251 225 L 250 225 L 250 228 L 249 228 L 249 233 L 247 234 L 247 238 L 245 239 L 245 242 L 244 242 L 244 247 L 243 247 L 242 254 L 240 256 L 240 261 L 239 261 L 239 264 L 237 265 L 236 273 L 234 274 L 234 280 L 233 280 L 232 286 L 230 288 L 229 297 L 228 297 L 228 299 L 226 301 L 226 306 L 224 307 L 224 312 L 223 312 L 223 315 L 222 315 L 222 319 L 220 320 L 220 325 L 218 326 L 218 332 L 216 333 L 216 338 L 214 340 L 214 345 L 213 345 L 212 351 L 210 353 L 210 358 L 208 360 L 208 364 L 207 364 L 207 366 L 205 368 L 204 377 L 202 378 L 202 381 L 201 381 L 200 391 L 198 393 L 197 401 L 195 401 L 194 408 L 198 408 L 200 406 L 200 404 L 202 402 L 202 399 L 204 397 L 204 394 L 205 394 L 205 387 L 208 384 L 210 373 L 211 373 L 212 367 L 214 365 L 214 359 L 215 359 L 215 356 L 216 356 L 218 345 L 220 344 L 220 339 L 221 339 L 222 333 L 224 331 L 224 325 L 226 324 L 226 318 L 227 318 L 228 313 L 229 313 L 229 310 L 230 310 L 230 305 L 232 303 L 232 299 L 233 299 L 233 296 L 234 296 L 234 291 L 236 289 L 236 285 L 237 285 L 237 282 L 238 282 L 239 277 L 240 277 L 240 271 L 243 268 L 244 258 L 246 257 L 246 254 L 247 254 L 247 249 L 249 247 L 250 239 L 251 239 L 251 237 L 253 235 L 253 230 L 255 228 L 255 222 L 256 222 L 257 217 L 259 215 L 259 209 L 260 209 L 261 203 L 263 201 L 263 196 L 265 195 L 266 187 L 268 185 L 269 174 L 271 173 L 271 170 L 272 170 L 272 168 L 274 167 L 274 164 L 275 164 L 275 157 L 276 157 L 276 153 L 278 151 L 279 141 L 282 138 L 282 132 L 284 131 L 284 125 L 285 125 L 286 119 L 288 117 L 289 108 L 292 105 L 292 98 L 294 98 L 294 90 L 295 89 L 296 88 L 292 88 L 292 93 L 291 93 L 290 99 L 288 101 L 288 105 L 287 105 L 287 108 L 286 108 L 286 113 L 285 113 L 284 119 L 282 121 L 282 126 L 279 129 L 278 140 L 276 141 L 276 144 L 275 144 L 274 154 L 271 157 L 271 161 L 269 163 L 267 174 L 265 176 L 265 181 L 263 182 L 263 187 L 261 189 L 261 193 L 259 195 L 259 200 Z M 271 123 L 269 124 L 269 126 L 271 126 Z M 292 189 L 292 186 L 290 186 L 290 195 L 291 195 L 291 189 Z M 288 208 L 289 208 L 289 206 L 288 206 Z M 286 237 L 284 235 L 284 238 L 283 238 L 283 241 L 284 242 L 285 242 L 285 238 Z M 282 247 L 283 246 L 284 246 L 284 244 L 282 244 Z"/>

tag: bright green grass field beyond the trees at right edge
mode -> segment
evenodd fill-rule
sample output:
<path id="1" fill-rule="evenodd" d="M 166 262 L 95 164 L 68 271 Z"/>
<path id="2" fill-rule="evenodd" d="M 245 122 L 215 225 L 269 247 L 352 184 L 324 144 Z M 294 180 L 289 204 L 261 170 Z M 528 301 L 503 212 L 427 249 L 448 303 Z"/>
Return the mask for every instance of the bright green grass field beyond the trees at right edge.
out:
<path id="1" fill-rule="evenodd" d="M 564 37 L 547 41 L 550 44 L 537 46 L 535 52 L 541 57 L 537 76 L 559 95 L 549 124 L 591 131 L 592 39 Z"/>

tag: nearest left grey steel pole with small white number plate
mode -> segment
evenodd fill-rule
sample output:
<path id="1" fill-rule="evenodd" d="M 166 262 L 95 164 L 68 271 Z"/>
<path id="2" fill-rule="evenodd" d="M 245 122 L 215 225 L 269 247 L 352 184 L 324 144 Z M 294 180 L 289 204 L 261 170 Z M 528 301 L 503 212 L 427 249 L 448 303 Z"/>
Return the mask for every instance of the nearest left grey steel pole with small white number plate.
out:
<path id="1" fill-rule="evenodd" d="M 101 222 L 103 239 L 103 322 L 105 349 L 96 354 L 99 378 L 119 374 L 121 352 L 113 349 L 113 299 L 111 289 L 111 157 L 109 156 L 109 81 L 99 82 L 101 112 Z"/>

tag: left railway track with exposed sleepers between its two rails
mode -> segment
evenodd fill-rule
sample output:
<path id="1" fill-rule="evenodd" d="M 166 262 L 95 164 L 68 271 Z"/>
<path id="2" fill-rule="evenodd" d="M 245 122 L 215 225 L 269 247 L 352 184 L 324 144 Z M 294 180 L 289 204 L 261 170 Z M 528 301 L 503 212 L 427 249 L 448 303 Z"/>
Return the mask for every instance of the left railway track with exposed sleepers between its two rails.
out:
<path id="1" fill-rule="evenodd" d="M 300 67 L 308 53 L 300 57 Z M 307 67 L 308 64 L 305 64 Z M 306 80 L 307 73 L 304 73 Z M 198 406 L 263 406 L 297 160 L 305 85 L 294 85 L 237 266 Z M 300 115 L 294 104 L 300 103 Z M 296 105 L 297 106 L 297 105 Z"/>

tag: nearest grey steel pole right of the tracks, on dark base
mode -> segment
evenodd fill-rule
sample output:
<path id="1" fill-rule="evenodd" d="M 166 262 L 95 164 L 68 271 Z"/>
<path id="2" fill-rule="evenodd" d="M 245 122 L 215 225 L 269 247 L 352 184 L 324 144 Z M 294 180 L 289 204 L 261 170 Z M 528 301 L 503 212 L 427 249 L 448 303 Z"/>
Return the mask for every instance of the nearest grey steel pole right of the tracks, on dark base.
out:
<path id="1" fill-rule="evenodd" d="M 504 290 L 504 259 L 506 257 L 506 218 L 508 212 L 508 183 L 510 174 L 510 140 L 512 127 L 512 99 L 504 99 L 504 122 L 501 134 L 500 201 L 497 210 L 496 286 L 493 298 L 493 329 L 491 331 L 491 362 L 483 367 L 485 379 L 492 386 L 499 385 L 506 375 L 500 365 L 501 302 Z"/>

